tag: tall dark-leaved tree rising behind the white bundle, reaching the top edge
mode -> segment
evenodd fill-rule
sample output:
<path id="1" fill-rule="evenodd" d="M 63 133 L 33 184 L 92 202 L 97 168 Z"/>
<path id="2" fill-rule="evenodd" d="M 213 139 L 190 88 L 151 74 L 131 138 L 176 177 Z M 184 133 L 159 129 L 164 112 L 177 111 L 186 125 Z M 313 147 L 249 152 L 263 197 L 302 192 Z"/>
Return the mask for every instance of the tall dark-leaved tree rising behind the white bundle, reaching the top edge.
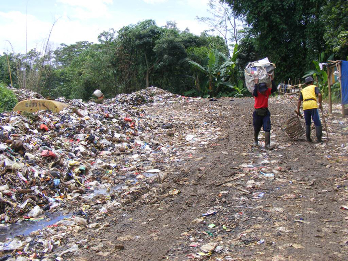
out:
<path id="1" fill-rule="evenodd" d="M 301 77 L 325 50 L 320 17 L 326 0 L 224 1 L 249 26 L 257 58 L 267 56 L 276 64 L 279 80 Z"/>

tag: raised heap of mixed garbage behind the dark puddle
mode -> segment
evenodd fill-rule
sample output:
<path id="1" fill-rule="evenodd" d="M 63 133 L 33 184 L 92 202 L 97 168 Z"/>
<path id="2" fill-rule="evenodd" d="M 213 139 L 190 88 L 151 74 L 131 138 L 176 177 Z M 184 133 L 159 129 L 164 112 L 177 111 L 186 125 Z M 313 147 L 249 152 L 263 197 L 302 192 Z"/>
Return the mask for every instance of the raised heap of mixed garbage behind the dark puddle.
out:
<path id="1" fill-rule="evenodd" d="M 29 91 L 16 94 L 24 98 L 23 93 L 32 96 Z M 124 166 L 143 157 L 125 163 L 120 156 L 152 150 L 151 141 L 141 136 L 154 125 L 133 106 L 170 98 L 183 99 L 151 87 L 118 95 L 106 104 L 60 98 L 70 107 L 57 114 L 1 114 L 0 220 L 36 218 L 95 187 L 105 190 L 122 183 L 119 172 L 126 173 Z"/>

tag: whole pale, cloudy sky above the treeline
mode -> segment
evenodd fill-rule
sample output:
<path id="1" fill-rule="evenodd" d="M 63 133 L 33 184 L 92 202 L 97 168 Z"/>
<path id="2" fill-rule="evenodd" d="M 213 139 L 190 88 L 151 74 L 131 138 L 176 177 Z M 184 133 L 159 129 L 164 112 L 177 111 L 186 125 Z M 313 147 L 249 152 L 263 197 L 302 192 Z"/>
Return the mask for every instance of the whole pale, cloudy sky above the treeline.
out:
<path id="1" fill-rule="evenodd" d="M 25 38 L 27 51 L 42 51 L 48 38 L 51 49 L 61 43 L 96 43 L 103 31 L 145 19 L 154 19 L 159 26 L 175 21 L 180 30 L 200 34 L 209 27 L 195 18 L 209 16 L 208 1 L 0 0 L 0 54 L 25 53 Z"/>

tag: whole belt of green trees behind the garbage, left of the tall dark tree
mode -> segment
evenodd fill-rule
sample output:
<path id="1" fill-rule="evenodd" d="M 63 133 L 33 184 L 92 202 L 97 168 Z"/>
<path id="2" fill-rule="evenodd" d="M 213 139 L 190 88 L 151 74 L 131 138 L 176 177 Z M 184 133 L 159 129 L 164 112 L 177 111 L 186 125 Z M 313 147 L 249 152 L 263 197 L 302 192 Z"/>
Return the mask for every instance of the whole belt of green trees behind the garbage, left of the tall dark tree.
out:
<path id="1" fill-rule="evenodd" d="M 187 61 L 202 64 L 213 49 L 228 55 L 221 37 L 180 31 L 175 22 L 160 27 L 145 20 L 117 32 L 101 32 L 98 43 L 81 41 L 61 44 L 54 52 L 47 47 L 44 52 L 11 54 L 10 66 L 15 69 L 14 84 L 52 98 L 88 99 L 97 88 L 110 97 L 151 85 L 183 93 L 204 76 Z M 8 84 L 5 65 L 0 56 L 0 81 Z"/>

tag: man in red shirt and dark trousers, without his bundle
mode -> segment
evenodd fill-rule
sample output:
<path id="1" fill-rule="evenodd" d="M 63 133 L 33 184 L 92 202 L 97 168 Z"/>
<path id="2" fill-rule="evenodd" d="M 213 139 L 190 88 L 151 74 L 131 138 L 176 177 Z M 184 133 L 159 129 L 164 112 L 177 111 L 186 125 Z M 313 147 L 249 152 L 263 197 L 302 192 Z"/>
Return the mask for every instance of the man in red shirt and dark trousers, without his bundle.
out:
<path id="1" fill-rule="evenodd" d="M 264 145 L 266 149 L 270 149 L 270 112 L 268 110 L 268 97 L 277 90 L 273 79 L 271 79 L 272 89 L 267 88 L 265 83 L 259 83 L 259 79 L 255 79 L 255 87 L 253 96 L 255 98 L 253 125 L 254 125 L 254 145 L 259 145 L 259 132 L 263 126 Z"/>

